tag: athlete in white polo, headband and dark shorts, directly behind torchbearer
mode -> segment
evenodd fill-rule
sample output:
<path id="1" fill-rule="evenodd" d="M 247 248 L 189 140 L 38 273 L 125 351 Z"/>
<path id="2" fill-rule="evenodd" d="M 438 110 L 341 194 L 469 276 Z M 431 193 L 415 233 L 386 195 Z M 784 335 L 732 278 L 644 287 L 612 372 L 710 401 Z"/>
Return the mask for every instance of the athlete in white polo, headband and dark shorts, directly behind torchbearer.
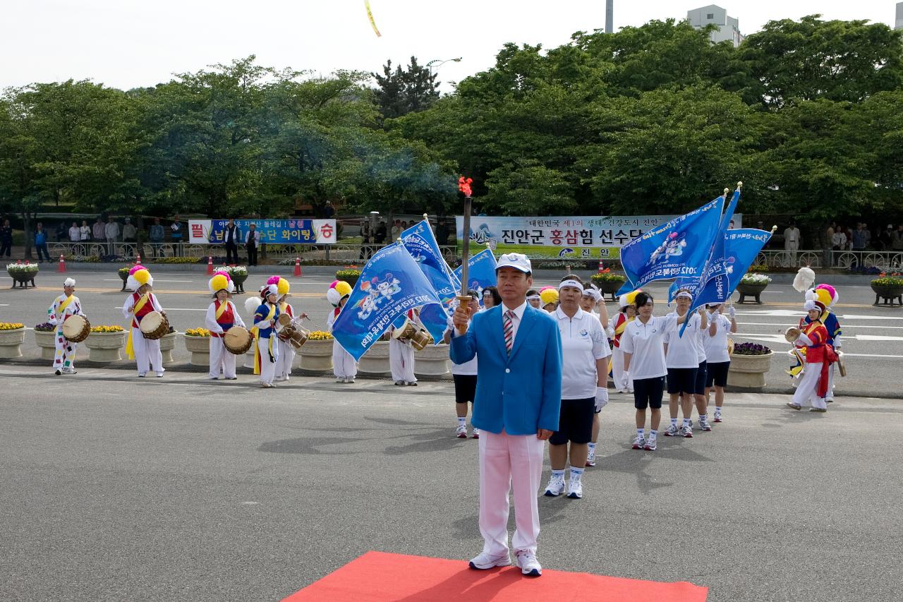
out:
<path id="1" fill-rule="evenodd" d="M 579 277 L 573 274 L 563 277 L 558 285 L 561 303 L 552 313 L 562 336 L 562 408 L 558 430 L 549 438 L 552 478 L 545 494 L 550 497 L 564 492 L 564 466 L 569 457 L 571 478 L 567 496 L 583 497 L 582 476 L 595 411 L 609 402 L 607 371 L 611 349 L 599 318 L 582 310 L 582 292 Z"/>

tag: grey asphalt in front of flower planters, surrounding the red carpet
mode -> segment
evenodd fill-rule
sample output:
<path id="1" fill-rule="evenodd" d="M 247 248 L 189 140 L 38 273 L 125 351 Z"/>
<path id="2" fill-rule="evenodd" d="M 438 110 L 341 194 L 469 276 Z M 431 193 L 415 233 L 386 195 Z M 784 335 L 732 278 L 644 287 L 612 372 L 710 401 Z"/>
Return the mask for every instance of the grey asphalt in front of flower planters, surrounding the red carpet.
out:
<path id="1" fill-rule="evenodd" d="M 0 378 L 2 600 L 276 601 L 367 550 L 479 551 L 477 442 L 452 437 L 450 383 Z M 711 433 L 653 453 L 612 398 L 586 497 L 540 498 L 545 568 L 724 602 L 903 595 L 898 400 L 814 414 L 732 394 Z"/>

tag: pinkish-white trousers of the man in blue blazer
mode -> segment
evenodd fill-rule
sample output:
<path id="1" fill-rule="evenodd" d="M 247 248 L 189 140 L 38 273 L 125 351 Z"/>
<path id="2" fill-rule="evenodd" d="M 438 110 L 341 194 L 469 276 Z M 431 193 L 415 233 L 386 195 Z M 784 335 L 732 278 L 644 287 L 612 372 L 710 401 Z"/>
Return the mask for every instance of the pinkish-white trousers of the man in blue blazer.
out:
<path id="1" fill-rule="evenodd" d="M 514 550 L 536 553 L 539 536 L 539 481 L 545 441 L 535 435 L 479 432 L 479 532 L 483 551 L 507 553 L 508 492 L 514 488 Z"/>

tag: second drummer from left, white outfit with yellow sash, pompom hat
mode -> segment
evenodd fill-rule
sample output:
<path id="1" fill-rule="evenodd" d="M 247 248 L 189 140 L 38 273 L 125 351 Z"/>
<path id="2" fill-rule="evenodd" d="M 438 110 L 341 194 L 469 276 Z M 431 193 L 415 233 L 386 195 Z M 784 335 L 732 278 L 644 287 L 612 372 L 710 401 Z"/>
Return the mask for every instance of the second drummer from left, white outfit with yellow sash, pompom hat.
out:
<path id="1" fill-rule="evenodd" d="M 122 314 L 132 318 L 132 327 L 126 341 L 126 355 L 128 359 L 135 360 L 138 368 L 138 376 L 144 377 L 148 370 L 153 370 L 157 378 L 163 376 L 163 353 L 160 352 L 160 339 L 149 339 L 144 336 L 141 323 L 145 316 L 157 312 L 155 317 L 165 318 L 166 312 L 152 291 L 154 277 L 144 268 L 135 266 L 128 271 L 126 287 L 135 292 L 126 297 L 122 307 Z M 165 323 L 165 320 L 163 320 Z"/>

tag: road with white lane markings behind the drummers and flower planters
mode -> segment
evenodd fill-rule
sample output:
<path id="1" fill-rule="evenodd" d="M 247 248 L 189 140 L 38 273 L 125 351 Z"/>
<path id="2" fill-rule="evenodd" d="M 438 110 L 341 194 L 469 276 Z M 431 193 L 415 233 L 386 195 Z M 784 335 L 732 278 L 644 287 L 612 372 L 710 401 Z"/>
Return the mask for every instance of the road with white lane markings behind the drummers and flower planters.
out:
<path id="1" fill-rule="evenodd" d="M 93 325 L 126 325 L 120 307 L 126 293 L 119 291 L 122 281 L 112 268 L 102 272 L 73 271 L 71 276 L 78 280 L 76 295 L 79 296 Z M 199 267 L 200 268 L 200 267 Z M 202 269 L 202 268 L 200 268 Z M 293 306 L 312 317 L 309 327 L 325 328 L 326 315 L 330 305 L 325 291 L 333 279 L 333 268 L 304 268 L 305 276 L 290 277 L 292 268 L 274 268 L 292 284 Z M 582 273 L 583 274 L 583 273 Z M 562 273 L 539 271 L 536 273 L 536 287 L 553 285 Z M 589 277 L 589 273 L 585 273 Z M 33 326 L 44 321 L 46 308 L 61 291 L 62 275 L 53 272 L 38 277 L 41 285 L 36 289 L 10 290 L 6 288 L 12 281 L 0 277 L 0 320 L 22 322 Z M 204 312 L 210 298 L 206 294 L 208 277 L 190 271 L 167 271 L 165 267 L 154 268 L 155 290 L 167 308 L 172 325 L 180 331 L 203 325 Z M 265 281 L 263 275 L 252 275 L 246 283 L 247 291 L 254 291 Z M 666 297 L 667 285 L 648 287 L 660 302 L 656 314 L 665 314 L 668 309 L 661 300 Z M 843 329 L 843 352 L 848 369 L 846 378 L 835 381 L 838 395 L 865 397 L 901 397 L 899 367 L 903 365 L 903 310 L 899 307 L 874 307 L 874 294 L 868 287 L 867 279 L 855 286 L 839 286 L 840 302 L 836 313 Z M 735 296 L 736 298 L 736 296 Z M 237 296 L 239 310 L 243 311 L 244 296 Z M 803 315 L 803 296 L 789 284 L 772 283 L 763 293 L 763 305 L 746 304 L 737 306 L 737 320 L 740 332 L 734 336 L 738 342 L 763 343 L 775 350 L 771 371 L 768 373 L 768 390 L 772 392 L 792 391 L 789 377 L 784 373 L 789 358 L 790 345 L 784 340 L 787 326 L 796 325 Z M 615 304 L 609 302 L 609 311 L 616 311 Z M 23 354 L 26 360 L 37 361 L 39 349 L 31 334 L 26 335 Z M 79 359 L 87 358 L 88 350 L 81 346 Z M 188 362 L 189 354 L 182 343 L 173 352 L 174 362 Z"/>

